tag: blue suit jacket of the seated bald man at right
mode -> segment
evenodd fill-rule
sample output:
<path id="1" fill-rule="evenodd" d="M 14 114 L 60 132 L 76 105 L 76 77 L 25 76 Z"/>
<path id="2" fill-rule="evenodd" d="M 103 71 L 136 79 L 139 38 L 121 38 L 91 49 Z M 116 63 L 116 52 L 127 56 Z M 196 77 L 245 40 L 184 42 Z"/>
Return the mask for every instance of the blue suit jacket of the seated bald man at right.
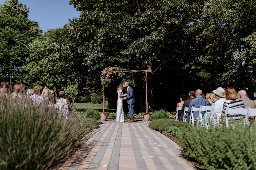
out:
<path id="1" fill-rule="evenodd" d="M 200 106 L 211 106 L 212 104 L 207 100 L 202 98 L 202 96 L 197 96 L 195 99 L 191 100 L 189 103 L 189 108 L 188 108 L 188 113 L 191 113 L 191 107 L 200 107 Z M 198 117 L 198 112 L 199 111 L 194 111 L 194 117 Z M 205 112 L 201 112 L 202 115 L 204 116 Z"/>

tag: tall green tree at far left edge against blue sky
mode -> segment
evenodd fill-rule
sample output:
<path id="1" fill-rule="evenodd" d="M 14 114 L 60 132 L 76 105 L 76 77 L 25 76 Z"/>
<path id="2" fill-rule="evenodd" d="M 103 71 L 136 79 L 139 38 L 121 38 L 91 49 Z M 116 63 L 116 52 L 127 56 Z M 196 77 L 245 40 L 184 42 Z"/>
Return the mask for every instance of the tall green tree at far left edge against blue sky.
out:
<path id="1" fill-rule="evenodd" d="M 23 82 L 21 66 L 29 57 L 26 45 L 42 33 L 38 23 L 28 19 L 28 11 L 18 0 L 0 4 L 0 76 L 4 81 Z"/>

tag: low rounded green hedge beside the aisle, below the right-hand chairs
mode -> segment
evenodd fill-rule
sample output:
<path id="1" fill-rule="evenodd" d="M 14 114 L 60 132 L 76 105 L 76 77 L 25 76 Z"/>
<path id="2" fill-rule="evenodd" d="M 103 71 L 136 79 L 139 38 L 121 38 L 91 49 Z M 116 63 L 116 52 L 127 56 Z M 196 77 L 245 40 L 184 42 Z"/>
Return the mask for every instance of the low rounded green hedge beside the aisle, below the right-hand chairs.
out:
<path id="1" fill-rule="evenodd" d="M 148 124 L 148 127 L 155 130 L 164 130 L 166 127 L 170 127 L 170 126 L 183 127 L 188 125 L 184 122 L 175 121 L 171 119 L 157 119 L 157 120 L 153 120 Z"/>

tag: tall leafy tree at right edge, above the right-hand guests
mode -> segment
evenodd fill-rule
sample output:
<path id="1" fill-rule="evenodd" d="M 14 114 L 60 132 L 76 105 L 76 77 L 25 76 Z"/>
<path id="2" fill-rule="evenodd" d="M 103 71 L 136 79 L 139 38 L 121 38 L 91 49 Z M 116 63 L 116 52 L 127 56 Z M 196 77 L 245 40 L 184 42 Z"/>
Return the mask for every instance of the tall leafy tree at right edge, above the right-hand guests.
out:
<path id="1" fill-rule="evenodd" d="M 194 24 L 201 29 L 194 48 L 199 53 L 195 51 L 187 65 L 201 69 L 197 74 L 210 87 L 251 88 L 255 66 L 250 40 L 256 31 L 256 2 L 204 1 Z"/>

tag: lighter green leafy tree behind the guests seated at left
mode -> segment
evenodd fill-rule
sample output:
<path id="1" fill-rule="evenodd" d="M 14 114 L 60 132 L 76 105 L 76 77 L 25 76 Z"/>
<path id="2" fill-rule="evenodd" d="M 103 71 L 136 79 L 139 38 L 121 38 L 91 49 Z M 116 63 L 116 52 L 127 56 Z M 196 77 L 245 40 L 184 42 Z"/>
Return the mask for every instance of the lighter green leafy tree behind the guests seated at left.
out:
<path id="1" fill-rule="evenodd" d="M 23 69 L 28 72 L 24 77 L 30 88 L 36 84 L 46 84 L 55 91 L 65 90 L 70 99 L 78 94 L 79 89 L 82 90 L 82 82 L 87 75 L 84 70 L 88 70 L 88 67 L 70 59 L 67 53 L 61 53 L 68 28 L 65 24 L 62 28 L 48 30 L 29 43 L 31 54 Z"/>

